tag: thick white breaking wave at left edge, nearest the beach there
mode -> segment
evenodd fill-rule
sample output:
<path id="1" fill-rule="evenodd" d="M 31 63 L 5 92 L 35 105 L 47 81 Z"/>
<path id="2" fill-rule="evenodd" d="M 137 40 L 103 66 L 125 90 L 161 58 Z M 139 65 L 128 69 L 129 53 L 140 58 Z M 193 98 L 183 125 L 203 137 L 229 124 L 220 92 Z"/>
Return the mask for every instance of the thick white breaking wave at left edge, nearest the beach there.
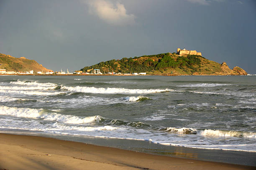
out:
<path id="1" fill-rule="evenodd" d="M 61 115 L 51 110 L 18 108 L 0 106 L 0 115 L 10 115 L 15 117 L 40 118 L 44 120 L 58 121 L 70 124 L 81 124 L 90 122 L 100 122 L 101 116 L 78 117 L 73 115 Z"/>

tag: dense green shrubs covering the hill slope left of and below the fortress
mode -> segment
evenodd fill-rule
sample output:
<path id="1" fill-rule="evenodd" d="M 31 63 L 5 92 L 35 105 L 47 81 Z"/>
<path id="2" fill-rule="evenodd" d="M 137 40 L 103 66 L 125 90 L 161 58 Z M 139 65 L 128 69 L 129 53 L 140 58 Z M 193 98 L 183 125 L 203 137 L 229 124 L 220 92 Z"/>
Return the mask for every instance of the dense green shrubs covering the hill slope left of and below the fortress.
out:
<path id="1" fill-rule="evenodd" d="M 143 55 L 141 57 L 122 58 L 121 60 L 109 60 L 106 62 L 100 62 L 90 67 L 84 67 L 81 70 L 87 72 L 92 68 L 100 69 L 102 73 L 105 72 L 151 72 L 155 70 L 166 70 L 168 68 L 189 68 L 192 72 L 198 71 L 201 67 L 200 56 L 188 55 L 177 56 L 175 53 L 162 53 L 157 55 Z M 153 59 L 154 58 L 154 59 Z M 157 60 L 155 60 L 157 58 Z M 177 58 L 174 60 L 174 58 Z"/>

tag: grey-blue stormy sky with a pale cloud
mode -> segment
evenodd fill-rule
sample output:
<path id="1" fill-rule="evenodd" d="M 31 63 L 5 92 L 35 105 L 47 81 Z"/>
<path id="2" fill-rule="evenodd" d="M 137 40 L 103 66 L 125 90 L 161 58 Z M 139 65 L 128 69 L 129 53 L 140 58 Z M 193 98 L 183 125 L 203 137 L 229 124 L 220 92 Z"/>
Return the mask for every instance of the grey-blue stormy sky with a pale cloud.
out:
<path id="1" fill-rule="evenodd" d="M 0 53 L 57 71 L 197 50 L 256 74 L 256 0 L 0 0 Z"/>

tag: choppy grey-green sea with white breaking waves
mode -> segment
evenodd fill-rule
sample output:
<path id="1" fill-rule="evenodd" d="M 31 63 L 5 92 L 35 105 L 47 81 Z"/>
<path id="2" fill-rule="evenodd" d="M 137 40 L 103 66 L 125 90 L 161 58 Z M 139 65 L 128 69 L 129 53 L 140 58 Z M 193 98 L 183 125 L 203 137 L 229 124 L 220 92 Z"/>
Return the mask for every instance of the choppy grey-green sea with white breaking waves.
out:
<path id="1" fill-rule="evenodd" d="M 255 94 L 255 75 L 0 76 L 0 132 L 256 153 Z"/>

